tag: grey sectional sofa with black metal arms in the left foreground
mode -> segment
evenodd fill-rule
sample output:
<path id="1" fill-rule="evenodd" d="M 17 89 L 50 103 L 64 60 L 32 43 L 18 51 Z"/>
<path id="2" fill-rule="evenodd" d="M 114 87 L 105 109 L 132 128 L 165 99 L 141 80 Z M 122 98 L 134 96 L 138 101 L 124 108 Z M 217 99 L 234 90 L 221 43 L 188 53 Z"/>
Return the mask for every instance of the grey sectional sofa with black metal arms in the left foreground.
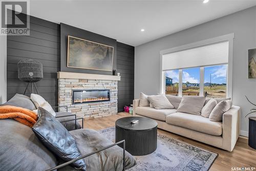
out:
<path id="1" fill-rule="evenodd" d="M 2 105 L 19 106 L 29 110 L 35 108 L 29 97 L 19 94 Z M 134 157 L 126 151 L 125 160 L 123 160 L 123 148 L 118 145 L 112 146 L 114 143 L 111 140 L 97 131 L 81 129 L 81 125 L 75 122 L 76 117 L 71 113 L 56 112 L 55 117 L 75 139 L 82 156 L 111 146 L 97 154 L 83 158 L 87 164 L 87 171 L 123 170 L 123 164 L 126 169 L 136 165 Z M 72 121 L 65 122 L 67 120 Z M 64 163 L 39 141 L 31 127 L 13 119 L 0 119 L 0 130 L 0 170 L 43 171 Z M 66 165 L 57 170 L 75 171 L 77 169 Z"/>

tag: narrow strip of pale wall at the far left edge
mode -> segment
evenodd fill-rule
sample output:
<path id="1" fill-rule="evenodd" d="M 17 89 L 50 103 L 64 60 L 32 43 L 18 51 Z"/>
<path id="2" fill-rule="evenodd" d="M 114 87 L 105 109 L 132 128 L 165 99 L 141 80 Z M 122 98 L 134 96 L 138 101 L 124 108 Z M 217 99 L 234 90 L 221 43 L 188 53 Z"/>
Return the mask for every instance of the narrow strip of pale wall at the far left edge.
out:
<path id="1" fill-rule="evenodd" d="M 0 36 L 0 104 L 6 102 L 7 36 Z"/>

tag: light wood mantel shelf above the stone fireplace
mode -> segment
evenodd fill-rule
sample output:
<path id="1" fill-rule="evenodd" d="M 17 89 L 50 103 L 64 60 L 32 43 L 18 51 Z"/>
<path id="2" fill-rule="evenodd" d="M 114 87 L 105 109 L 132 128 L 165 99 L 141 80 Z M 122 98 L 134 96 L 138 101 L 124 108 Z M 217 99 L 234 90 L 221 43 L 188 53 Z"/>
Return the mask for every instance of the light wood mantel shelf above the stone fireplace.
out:
<path id="1" fill-rule="evenodd" d="M 59 78 L 71 78 L 71 79 L 99 79 L 99 80 L 117 80 L 120 81 L 121 77 L 116 75 L 101 75 L 101 74 L 85 74 L 74 72 L 57 72 Z"/>

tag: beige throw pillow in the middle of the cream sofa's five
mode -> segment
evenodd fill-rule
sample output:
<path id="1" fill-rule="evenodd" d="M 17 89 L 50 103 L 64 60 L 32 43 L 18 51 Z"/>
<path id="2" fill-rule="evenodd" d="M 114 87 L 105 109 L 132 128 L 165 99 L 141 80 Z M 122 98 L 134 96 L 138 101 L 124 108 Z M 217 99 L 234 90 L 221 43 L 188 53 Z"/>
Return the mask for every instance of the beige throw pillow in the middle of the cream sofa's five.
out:
<path id="1" fill-rule="evenodd" d="M 203 96 L 183 96 L 177 112 L 201 115 L 204 102 Z"/>

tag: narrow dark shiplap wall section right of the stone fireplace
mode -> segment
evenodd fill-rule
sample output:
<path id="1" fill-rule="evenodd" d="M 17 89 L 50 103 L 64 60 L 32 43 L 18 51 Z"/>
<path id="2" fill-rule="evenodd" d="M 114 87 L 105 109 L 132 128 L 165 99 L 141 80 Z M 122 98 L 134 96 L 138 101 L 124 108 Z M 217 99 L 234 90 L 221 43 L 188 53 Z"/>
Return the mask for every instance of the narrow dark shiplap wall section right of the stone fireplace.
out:
<path id="1" fill-rule="evenodd" d="M 117 72 L 118 81 L 118 112 L 124 105 L 130 105 L 134 99 L 134 47 L 117 42 Z"/>

